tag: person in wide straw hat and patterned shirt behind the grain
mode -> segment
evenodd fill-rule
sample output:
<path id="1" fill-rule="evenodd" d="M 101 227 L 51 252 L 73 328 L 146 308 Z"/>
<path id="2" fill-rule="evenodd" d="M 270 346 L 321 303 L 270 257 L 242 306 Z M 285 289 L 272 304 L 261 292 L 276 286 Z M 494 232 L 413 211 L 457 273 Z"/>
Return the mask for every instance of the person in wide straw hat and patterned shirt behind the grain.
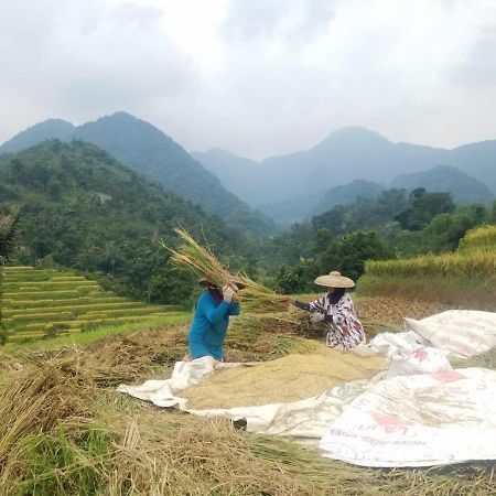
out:
<path id="1" fill-rule="evenodd" d="M 351 349 L 365 343 L 364 326 L 356 316 L 355 306 L 347 288 L 355 282 L 333 271 L 315 279 L 315 284 L 327 288 L 327 293 L 312 301 L 303 303 L 295 300 L 294 304 L 311 312 L 313 323 L 323 322 L 327 328 L 326 345 L 338 349 Z"/>

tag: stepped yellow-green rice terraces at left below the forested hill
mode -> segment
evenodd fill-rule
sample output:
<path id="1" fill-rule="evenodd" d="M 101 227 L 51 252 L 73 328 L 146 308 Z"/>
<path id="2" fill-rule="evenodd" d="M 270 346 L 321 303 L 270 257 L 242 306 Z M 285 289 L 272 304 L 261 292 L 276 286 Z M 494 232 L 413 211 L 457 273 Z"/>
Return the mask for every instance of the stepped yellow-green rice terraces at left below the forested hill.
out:
<path id="1" fill-rule="evenodd" d="M 180 306 L 129 301 L 71 272 L 4 267 L 3 273 L 2 313 L 10 342 L 74 335 L 184 312 Z"/>

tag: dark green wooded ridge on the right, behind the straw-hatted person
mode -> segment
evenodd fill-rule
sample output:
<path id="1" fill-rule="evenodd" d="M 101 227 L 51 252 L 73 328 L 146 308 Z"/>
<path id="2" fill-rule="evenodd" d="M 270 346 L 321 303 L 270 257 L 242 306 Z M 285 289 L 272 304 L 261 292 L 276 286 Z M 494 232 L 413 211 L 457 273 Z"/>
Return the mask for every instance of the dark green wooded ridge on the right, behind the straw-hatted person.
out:
<path id="1" fill-rule="evenodd" d="M 486 223 L 496 223 L 496 202 L 456 206 L 449 193 L 388 190 L 295 224 L 270 241 L 265 267 L 281 290 L 311 291 L 330 269 L 357 279 L 365 260 L 452 251 Z"/>

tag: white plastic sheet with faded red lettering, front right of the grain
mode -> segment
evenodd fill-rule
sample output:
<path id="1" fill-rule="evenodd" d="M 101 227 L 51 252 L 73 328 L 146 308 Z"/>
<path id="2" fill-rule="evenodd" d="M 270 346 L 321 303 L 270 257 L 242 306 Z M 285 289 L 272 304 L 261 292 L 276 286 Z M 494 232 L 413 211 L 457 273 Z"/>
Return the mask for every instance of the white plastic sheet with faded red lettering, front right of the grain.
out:
<path id="1" fill-rule="evenodd" d="M 320 448 L 365 466 L 496 460 L 496 371 L 466 368 L 371 385 L 331 424 Z"/>

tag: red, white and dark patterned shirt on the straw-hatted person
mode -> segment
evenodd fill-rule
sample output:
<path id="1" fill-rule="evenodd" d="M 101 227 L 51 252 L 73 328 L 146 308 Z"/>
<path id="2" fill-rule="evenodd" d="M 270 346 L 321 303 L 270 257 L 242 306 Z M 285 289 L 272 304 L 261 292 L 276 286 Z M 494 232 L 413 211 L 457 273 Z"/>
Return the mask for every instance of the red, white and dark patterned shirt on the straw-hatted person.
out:
<path id="1" fill-rule="evenodd" d="M 351 349 L 365 343 L 364 326 L 348 294 L 345 293 L 337 303 L 331 303 L 331 294 L 326 293 L 310 303 L 310 311 L 332 316 L 332 322 L 326 322 L 327 346 Z"/>

